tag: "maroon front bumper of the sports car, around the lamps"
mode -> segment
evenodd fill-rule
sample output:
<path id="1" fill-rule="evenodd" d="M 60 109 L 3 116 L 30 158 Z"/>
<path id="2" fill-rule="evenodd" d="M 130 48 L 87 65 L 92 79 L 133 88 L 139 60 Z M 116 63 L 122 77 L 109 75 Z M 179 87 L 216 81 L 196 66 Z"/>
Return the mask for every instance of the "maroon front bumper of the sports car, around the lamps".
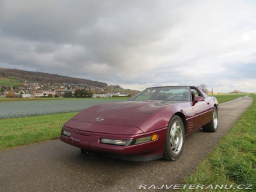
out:
<path id="1" fill-rule="evenodd" d="M 136 135 L 106 134 L 99 132 L 86 132 L 77 129 L 63 127 L 64 131 L 70 132 L 70 136 L 61 134 L 60 140 L 74 145 L 75 147 L 92 152 L 108 154 L 111 157 L 118 157 L 131 161 L 148 161 L 160 159 L 163 156 L 164 141 L 166 137 L 166 127 L 156 131 L 140 133 Z M 113 140 L 134 140 L 158 134 L 157 140 L 148 141 L 131 146 L 110 145 L 100 143 L 100 138 L 109 138 Z"/>

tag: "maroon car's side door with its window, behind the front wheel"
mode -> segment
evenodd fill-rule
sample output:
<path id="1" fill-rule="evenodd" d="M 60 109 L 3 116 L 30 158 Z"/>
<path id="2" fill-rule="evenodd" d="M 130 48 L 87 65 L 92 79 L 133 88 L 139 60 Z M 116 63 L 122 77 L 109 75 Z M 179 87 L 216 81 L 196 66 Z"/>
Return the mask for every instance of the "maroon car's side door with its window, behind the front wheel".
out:
<path id="1" fill-rule="evenodd" d="M 203 125 L 207 124 L 211 121 L 212 118 L 212 106 L 207 99 L 207 97 L 204 96 L 200 90 L 196 87 L 190 88 L 191 93 L 195 93 L 195 97 L 203 97 L 204 100 L 195 102 L 192 98 L 191 106 L 194 111 L 194 129 L 198 129 L 202 127 Z"/>

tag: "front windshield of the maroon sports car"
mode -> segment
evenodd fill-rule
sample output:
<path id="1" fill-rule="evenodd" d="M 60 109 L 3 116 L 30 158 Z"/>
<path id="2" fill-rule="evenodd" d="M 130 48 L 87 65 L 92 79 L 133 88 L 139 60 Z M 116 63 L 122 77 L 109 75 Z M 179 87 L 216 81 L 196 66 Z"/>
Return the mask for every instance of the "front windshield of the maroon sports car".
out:
<path id="1" fill-rule="evenodd" d="M 190 100 L 188 86 L 147 88 L 130 100 Z"/>

